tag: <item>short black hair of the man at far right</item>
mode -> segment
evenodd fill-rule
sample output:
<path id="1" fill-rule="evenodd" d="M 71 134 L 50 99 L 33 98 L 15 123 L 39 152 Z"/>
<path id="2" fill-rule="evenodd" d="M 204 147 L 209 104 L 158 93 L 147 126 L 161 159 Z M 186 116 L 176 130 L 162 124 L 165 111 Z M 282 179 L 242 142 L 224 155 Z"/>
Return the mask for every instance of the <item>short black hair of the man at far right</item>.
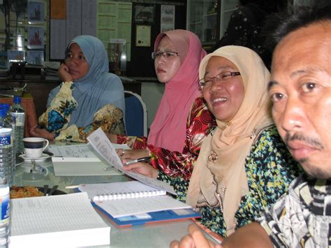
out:
<path id="1" fill-rule="evenodd" d="M 289 5 L 284 12 L 271 15 L 268 19 L 264 27 L 269 33 L 266 45 L 273 51 L 290 32 L 314 23 L 331 21 L 331 0 L 315 0 L 311 6 Z"/>

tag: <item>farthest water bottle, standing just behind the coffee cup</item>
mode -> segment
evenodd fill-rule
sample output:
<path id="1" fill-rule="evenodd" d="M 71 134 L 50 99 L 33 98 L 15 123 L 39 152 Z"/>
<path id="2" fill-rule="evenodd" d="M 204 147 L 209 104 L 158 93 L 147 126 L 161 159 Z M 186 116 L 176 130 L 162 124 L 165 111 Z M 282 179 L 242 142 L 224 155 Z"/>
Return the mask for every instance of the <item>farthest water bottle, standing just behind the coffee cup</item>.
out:
<path id="1" fill-rule="evenodd" d="M 14 129 L 14 140 L 15 140 L 15 154 L 21 154 L 24 152 L 24 120 L 25 112 L 21 105 L 22 98 L 20 96 L 14 96 L 14 103 L 10 106 L 10 115 L 15 119 L 15 129 Z"/>

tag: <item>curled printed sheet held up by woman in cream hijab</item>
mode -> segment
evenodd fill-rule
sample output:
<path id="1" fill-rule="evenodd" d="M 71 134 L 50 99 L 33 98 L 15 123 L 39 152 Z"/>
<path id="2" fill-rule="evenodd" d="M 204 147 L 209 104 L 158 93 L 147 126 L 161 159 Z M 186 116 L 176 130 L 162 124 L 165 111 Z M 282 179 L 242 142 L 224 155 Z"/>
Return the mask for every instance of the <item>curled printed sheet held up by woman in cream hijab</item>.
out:
<path id="1" fill-rule="evenodd" d="M 145 175 L 127 172 L 126 170 L 123 170 L 122 161 L 121 159 L 119 159 L 115 147 L 112 145 L 112 143 L 110 143 L 110 140 L 107 138 L 101 128 L 98 128 L 96 129 L 96 131 L 91 133 L 87 137 L 87 140 L 89 140 L 91 146 L 96 150 L 96 152 L 98 152 L 98 154 L 100 154 L 100 156 L 103 157 L 103 159 L 105 159 L 105 161 L 108 162 L 110 166 L 116 167 L 117 169 L 121 170 L 122 173 L 133 177 L 135 180 L 138 180 L 144 184 L 155 187 L 157 189 L 163 189 L 170 194 L 176 195 L 174 189 L 172 189 L 172 187 L 166 182 L 161 182 Z"/>

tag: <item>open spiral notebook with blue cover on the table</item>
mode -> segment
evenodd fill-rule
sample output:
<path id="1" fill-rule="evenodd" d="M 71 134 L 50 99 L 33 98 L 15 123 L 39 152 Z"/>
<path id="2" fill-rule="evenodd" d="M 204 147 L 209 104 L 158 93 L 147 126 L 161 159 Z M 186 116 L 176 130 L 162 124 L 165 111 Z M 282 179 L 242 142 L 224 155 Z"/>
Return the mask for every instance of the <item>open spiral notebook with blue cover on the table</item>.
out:
<path id="1" fill-rule="evenodd" d="M 78 190 L 87 192 L 94 207 L 118 226 L 200 217 L 166 191 L 138 181 L 81 184 Z"/>

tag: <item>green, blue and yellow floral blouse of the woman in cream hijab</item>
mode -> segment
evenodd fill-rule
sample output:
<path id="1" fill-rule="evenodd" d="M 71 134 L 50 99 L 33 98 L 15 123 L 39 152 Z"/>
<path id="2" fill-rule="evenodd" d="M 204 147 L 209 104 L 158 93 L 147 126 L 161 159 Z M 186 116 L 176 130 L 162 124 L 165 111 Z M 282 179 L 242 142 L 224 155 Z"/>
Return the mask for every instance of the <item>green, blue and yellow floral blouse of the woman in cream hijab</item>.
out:
<path id="1" fill-rule="evenodd" d="M 245 168 L 249 193 L 242 198 L 235 213 L 236 228 L 253 221 L 260 212 L 272 206 L 288 191 L 290 182 L 302 173 L 275 126 L 260 133 L 246 158 Z M 178 200 L 186 200 L 189 181 L 181 177 L 169 177 L 161 171 L 158 179 L 174 187 Z M 203 225 L 214 233 L 226 237 L 226 224 L 220 207 L 200 207 L 200 212 L 202 215 L 200 221 Z"/>

